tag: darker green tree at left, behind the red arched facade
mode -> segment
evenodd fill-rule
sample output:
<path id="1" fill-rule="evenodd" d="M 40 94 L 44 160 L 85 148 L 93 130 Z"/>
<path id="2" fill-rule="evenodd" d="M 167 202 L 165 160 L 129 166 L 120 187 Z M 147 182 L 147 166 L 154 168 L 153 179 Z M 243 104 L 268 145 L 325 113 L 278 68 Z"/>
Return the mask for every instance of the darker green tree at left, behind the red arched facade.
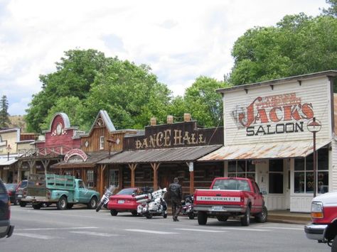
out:
<path id="1" fill-rule="evenodd" d="M 28 131 L 41 132 L 41 125 L 48 111 L 62 97 L 87 97 L 90 85 L 94 82 L 107 62 L 114 60 L 105 57 L 97 50 L 68 50 L 65 57 L 56 62 L 56 71 L 41 75 L 42 90 L 33 95 L 26 110 Z"/>

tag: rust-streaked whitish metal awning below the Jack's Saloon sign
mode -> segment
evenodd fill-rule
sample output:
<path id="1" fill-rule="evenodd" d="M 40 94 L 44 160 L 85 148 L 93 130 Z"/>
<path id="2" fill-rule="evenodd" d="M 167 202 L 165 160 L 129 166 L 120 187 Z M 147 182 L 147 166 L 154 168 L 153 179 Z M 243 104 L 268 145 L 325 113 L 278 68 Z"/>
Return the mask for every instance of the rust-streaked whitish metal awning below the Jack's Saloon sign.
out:
<path id="1" fill-rule="evenodd" d="M 331 143 L 316 142 L 316 150 Z M 237 159 L 269 159 L 269 158 L 300 158 L 314 152 L 313 141 L 292 141 L 282 143 L 259 143 L 237 146 L 223 146 L 198 161 L 237 160 Z"/>

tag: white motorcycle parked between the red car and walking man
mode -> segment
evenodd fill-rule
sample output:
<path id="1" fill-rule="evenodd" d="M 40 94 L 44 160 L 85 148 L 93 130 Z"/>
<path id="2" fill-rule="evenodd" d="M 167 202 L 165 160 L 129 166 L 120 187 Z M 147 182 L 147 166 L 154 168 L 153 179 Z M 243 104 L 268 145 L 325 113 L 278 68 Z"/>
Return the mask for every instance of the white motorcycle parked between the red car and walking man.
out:
<path id="1" fill-rule="evenodd" d="M 135 196 L 137 203 L 137 213 L 144 215 L 146 219 L 151 219 L 154 216 L 167 217 L 167 204 L 164 200 L 164 195 L 167 192 L 166 188 L 159 189 L 154 192 Z"/>

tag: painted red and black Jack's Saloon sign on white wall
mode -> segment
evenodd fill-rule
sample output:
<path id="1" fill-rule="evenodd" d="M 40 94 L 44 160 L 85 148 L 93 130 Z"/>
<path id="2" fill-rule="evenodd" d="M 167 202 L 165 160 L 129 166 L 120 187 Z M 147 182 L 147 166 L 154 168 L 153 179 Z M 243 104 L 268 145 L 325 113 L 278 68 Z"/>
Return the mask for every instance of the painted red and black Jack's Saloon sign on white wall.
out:
<path id="1" fill-rule="evenodd" d="M 237 113 L 237 123 L 246 136 L 303 132 L 306 121 L 314 117 L 314 107 L 296 93 L 257 97 Z"/>

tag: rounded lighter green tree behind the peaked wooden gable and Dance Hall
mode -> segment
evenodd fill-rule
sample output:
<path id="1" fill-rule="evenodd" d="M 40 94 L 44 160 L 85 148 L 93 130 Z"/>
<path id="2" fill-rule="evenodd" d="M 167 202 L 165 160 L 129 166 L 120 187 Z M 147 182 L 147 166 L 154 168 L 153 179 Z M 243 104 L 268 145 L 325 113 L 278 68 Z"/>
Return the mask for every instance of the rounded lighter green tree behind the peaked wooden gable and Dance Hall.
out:
<path id="1" fill-rule="evenodd" d="M 92 122 L 98 111 L 105 109 L 116 128 L 143 128 L 151 116 L 159 123 L 166 119 L 170 100 L 171 91 L 158 82 L 148 66 L 114 60 L 92 84 L 83 118 Z"/>

